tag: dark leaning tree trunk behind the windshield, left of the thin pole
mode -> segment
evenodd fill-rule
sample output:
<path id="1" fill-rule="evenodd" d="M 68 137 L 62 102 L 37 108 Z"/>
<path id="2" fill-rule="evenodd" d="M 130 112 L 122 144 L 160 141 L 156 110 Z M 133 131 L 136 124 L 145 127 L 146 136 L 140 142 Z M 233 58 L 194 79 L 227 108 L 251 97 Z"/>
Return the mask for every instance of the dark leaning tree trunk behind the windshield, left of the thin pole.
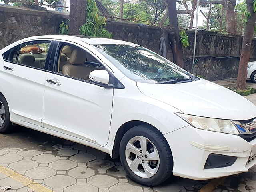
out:
<path id="1" fill-rule="evenodd" d="M 166 2 L 168 5 L 170 29 L 174 32 L 174 36 L 170 37 L 172 54 L 173 54 L 173 62 L 176 65 L 184 68 L 183 49 L 182 49 L 182 44 L 180 42 L 180 35 L 179 35 L 180 31 L 178 28 L 176 0 L 166 0 Z"/>

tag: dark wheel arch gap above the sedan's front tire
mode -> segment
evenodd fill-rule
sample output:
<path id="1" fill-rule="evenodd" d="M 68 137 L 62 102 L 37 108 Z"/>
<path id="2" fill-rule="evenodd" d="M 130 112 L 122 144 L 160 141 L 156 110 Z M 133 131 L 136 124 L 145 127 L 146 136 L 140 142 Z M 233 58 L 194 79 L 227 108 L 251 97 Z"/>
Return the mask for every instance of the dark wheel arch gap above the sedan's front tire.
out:
<path id="1" fill-rule="evenodd" d="M 115 136 L 115 140 L 114 140 L 114 146 L 112 149 L 112 158 L 116 159 L 119 157 L 119 146 L 120 146 L 120 142 L 122 140 L 122 137 L 124 136 L 124 134 L 130 129 L 133 128 L 134 126 L 137 125 L 149 125 L 151 127 L 154 127 L 156 130 L 158 130 L 160 132 L 160 130 L 158 128 L 156 128 L 155 126 L 144 122 L 144 121 L 139 121 L 139 120 L 132 120 L 132 121 L 128 121 L 124 124 L 122 124 L 122 126 L 120 126 L 120 128 L 117 130 L 116 132 L 116 136 Z M 160 132 L 162 134 L 162 132 Z"/>

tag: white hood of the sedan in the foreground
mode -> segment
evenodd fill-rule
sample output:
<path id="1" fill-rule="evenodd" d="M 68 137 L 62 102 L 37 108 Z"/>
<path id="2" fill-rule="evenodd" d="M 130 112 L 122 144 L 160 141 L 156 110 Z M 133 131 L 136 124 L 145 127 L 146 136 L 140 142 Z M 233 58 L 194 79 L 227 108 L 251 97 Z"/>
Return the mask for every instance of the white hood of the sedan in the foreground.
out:
<path id="1" fill-rule="evenodd" d="M 137 83 L 146 96 L 162 101 L 185 114 L 229 120 L 256 117 L 256 106 L 239 94 L 200 79 L 180 84 Z"/>

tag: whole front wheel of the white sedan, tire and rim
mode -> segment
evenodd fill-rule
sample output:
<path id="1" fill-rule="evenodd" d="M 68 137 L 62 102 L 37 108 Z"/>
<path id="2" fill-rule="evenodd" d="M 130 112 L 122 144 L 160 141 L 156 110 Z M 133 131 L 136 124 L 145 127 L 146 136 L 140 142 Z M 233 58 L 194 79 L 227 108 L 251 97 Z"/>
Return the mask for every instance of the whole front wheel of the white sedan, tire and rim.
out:
<path id="1" fill-rule="evenodd" d="M 128 176 L 146 186 L 158 185 L 172 175 L 170 147 L 164 136 L 149 125 L 135 126 L 124 134 L 120 159 Z"/>

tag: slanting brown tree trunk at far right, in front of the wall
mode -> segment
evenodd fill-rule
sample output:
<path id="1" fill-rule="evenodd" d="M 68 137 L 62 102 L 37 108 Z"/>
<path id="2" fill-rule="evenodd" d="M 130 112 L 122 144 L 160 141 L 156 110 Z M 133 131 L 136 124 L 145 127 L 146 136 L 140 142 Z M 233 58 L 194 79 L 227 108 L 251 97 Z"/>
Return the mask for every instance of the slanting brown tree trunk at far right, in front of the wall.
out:
<path id="1" fill-rule="evenodd" d="M 247 18 L 248 22 L 246 23 L 244 30 L 244 38 L 240 56 L 240 63 L 238 68 L 238 77 L 237 77 L 237 88 L 245 89 L 246 85 L 246 76 L 247 76 L 247 65 L 250 58 L 250 49 L 252 44 L 252 38 L 254 34 L 254 26 L 256 21 L 256 13 L 253 11 L 252 0 L 246 0 L 247 11 L 250 12 L 251 16 Z"/>

